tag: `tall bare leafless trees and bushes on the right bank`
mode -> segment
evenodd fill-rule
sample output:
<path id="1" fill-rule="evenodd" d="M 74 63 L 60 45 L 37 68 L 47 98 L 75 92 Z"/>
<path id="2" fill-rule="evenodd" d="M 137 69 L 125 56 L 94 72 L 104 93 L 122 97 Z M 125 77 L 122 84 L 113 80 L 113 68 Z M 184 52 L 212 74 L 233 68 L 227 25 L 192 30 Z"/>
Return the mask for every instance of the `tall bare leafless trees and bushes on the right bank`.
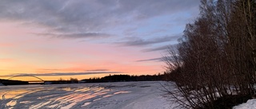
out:
<path id="1" fill-rule="evenodd" d="M 255 95 L 256 1 L 201 0 L 177 49 L 164 57 L 185 108 L 231 108 Z M 173 87 L 173 86 L 172 86 Z"/>

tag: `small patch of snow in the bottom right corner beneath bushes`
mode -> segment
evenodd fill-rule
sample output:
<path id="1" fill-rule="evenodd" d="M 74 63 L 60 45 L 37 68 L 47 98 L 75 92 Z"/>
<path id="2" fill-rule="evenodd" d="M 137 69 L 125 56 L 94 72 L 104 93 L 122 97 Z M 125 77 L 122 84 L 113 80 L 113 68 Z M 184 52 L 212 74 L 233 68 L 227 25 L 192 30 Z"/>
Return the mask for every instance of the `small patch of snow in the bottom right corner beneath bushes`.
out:
<path id="1" fill-rule="evenodd" d="M 233 109 L 256 109 L 256 99 L 249 99 L 246 103 L 242 103 Z"/>

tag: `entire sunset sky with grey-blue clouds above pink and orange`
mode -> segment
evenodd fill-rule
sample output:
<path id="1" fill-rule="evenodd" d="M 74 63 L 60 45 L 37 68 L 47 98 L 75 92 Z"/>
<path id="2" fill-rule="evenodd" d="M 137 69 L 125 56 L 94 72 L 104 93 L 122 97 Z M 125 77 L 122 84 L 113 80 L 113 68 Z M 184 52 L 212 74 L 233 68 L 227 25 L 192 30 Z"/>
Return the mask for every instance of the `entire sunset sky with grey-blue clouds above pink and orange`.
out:
<path id="1" fill-rule="evenodd" d="M 0 79 L 154 75 L 200 0 L 0 0 Z"/>

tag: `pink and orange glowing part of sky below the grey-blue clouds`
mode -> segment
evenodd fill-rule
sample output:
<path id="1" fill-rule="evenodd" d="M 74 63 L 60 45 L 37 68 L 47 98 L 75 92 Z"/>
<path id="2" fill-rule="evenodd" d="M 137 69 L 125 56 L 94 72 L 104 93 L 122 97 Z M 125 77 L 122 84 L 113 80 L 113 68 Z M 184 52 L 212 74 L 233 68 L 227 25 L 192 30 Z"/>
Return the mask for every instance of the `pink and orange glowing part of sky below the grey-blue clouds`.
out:
<path id="1" fill-rule="evenodd" d="M 158 53 L 140 53 L 131 47 L 79 42 L 34 35 L 40 31 L 18 25 L 17 22 L 0 21 L 0 76 L 18 73 L 86 72 L 106 69 L 117 74 L 153 75 L 162 72 L 162 62 L 136 60 L 150 59 Z M 150 55 L 149 55 L 150 54 Z M 110 74 L 82 76 L 42 76 L 43 80 L 78 80 Z"/>

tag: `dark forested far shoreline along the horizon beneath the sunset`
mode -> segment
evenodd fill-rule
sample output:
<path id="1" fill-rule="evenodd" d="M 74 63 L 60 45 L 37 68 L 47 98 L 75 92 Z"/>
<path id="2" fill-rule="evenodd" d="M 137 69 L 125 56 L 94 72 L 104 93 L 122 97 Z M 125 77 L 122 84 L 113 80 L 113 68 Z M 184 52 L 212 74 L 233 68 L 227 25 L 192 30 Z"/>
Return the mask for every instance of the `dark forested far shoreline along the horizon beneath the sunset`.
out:
<path id="1" fill-rule="evenodd" d="M 22 84 L 82 84 L 82 83 L 104 83 L 104 82 L 125 82 L 125 81 L 158 81 L 166 80 L 170 75 L 169 73 L 164 73 L 158 75 L 142 75 L 142 76 L 130 76 L 130 75 L 113 75 L 104 77 L 93 77 L 90 79 L 78 80 L 76 78 L 70 78 L 70 80 L 64 80 L 60 78 L 59 80 L 46 80 L 38 83 L 30 83 L 22 80 L 1 80 L 2 85 L 22 85 Z M 170 78 L 169 78 L 170 80 Z"/>

